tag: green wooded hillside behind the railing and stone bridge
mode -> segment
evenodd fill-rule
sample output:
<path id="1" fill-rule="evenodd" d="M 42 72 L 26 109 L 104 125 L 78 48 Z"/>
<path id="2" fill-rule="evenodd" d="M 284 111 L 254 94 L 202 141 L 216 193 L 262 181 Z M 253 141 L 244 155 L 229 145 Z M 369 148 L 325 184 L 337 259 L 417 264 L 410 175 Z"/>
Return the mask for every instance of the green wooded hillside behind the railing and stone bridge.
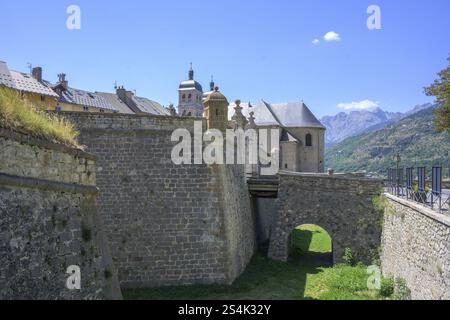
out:
<path id="1" fill-rule="evenodd" d="M 450 135 L 436 133 L 433 108 L 327 148 L 326 166 L 339 172 L 385 174 L 388 167 L 395 165 L 397 152 L 402 156 L 402 166 L 450 165 Z"/>

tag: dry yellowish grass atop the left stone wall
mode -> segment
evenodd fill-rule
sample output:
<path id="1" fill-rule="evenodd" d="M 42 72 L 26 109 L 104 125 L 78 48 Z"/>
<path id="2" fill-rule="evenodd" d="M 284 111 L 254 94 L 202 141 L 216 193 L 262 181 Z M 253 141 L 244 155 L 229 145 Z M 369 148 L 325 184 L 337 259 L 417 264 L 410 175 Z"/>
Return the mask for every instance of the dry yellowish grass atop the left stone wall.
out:
<path id="1" fill-rule="evenodd" d="M 62 117 L 38 110 L 22 99 L 17 91 L 0 86 L 0 127 L 45 138 L 68 146 L 80 147 L 78 131 Z"/>

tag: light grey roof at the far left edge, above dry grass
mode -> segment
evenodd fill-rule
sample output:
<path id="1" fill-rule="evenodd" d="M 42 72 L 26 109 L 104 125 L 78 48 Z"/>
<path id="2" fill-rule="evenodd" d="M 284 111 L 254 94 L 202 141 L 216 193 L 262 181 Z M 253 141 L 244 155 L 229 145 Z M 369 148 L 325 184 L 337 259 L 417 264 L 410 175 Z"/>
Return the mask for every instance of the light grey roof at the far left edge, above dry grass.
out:
<path id="1" fill-rule="evenodd" d="M 10 70 L 3 61 L 0 61 L 0 84 L 15 90 L 58 98 L 46 83 L 37 81 L 30 74 Z"/>

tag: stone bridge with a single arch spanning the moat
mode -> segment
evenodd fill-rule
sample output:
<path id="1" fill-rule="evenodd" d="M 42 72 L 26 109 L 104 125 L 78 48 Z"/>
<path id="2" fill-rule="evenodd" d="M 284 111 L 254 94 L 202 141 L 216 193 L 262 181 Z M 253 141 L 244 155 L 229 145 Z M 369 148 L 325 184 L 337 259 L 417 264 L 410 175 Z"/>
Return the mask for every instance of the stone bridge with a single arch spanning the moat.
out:
<path id="1" fill-rule="evenodd" d="M 345 248 L 365 263 L 377 254 L 383 216 L 374 203 L 382 192 L 382 181 L 292 172 L 280 172 L 278 180 L 257 180 L 249 180 L 249 190 L 257 198 L 258 241 L 269 243 L 270 258 L 286 261 L 292 231 L 304 224 L 318 225 L 329 233 L 336 263 Z M 277 199 L 263 199 L 267 195 Z"/>

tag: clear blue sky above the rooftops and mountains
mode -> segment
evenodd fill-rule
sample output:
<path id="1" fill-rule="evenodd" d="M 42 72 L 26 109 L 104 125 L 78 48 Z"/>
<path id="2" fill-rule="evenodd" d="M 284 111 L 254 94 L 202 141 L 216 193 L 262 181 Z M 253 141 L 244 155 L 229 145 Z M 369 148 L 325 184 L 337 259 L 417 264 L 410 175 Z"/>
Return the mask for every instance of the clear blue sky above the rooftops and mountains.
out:
<path id="1" fill-rule="evenodd" d="M 207 89 L 214 75 L 230 101 L 303 99 L 318 116 L 365 100 L 406 111 L 432 101 L 423 87 L 450 53 L 448 0 L 0 1 L 10 68 L 31 62 L 92 91 L 117 81 L 164 105 L 176 105 L 193 62 L 196 80 Z M 66 28 L 71 4 L 81 30 Z M 381 30 L 366 26 L 372 4 Z M 340 41 L 325 41 L 330 31 Z"/>

